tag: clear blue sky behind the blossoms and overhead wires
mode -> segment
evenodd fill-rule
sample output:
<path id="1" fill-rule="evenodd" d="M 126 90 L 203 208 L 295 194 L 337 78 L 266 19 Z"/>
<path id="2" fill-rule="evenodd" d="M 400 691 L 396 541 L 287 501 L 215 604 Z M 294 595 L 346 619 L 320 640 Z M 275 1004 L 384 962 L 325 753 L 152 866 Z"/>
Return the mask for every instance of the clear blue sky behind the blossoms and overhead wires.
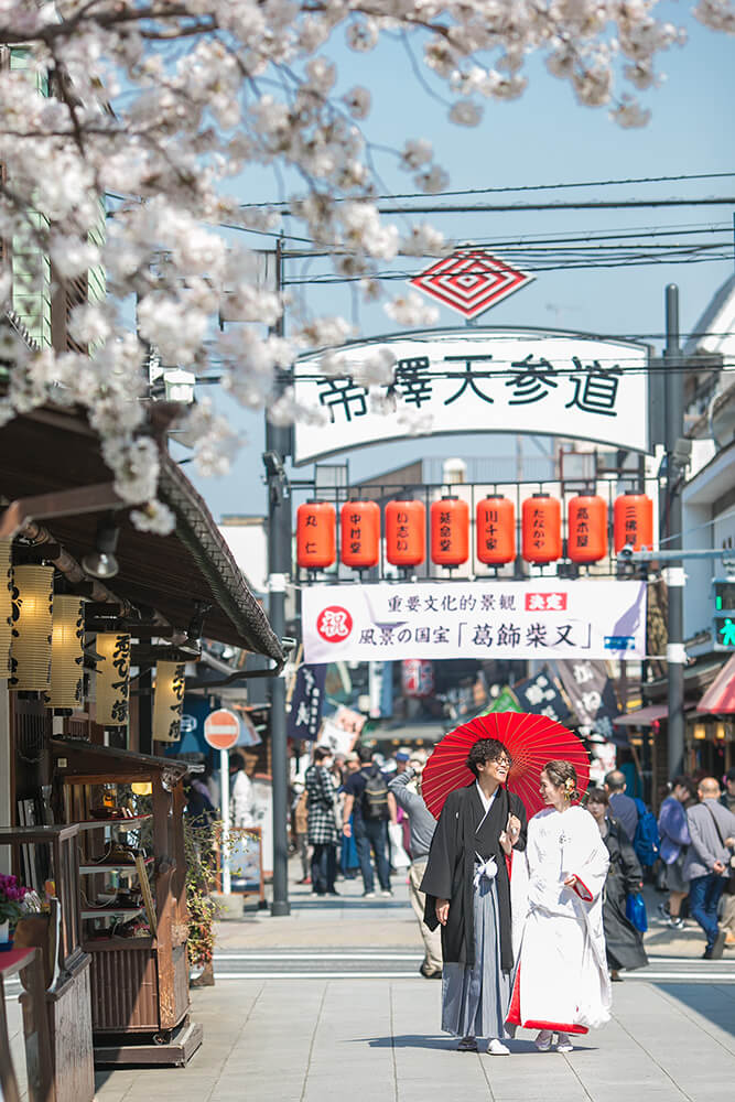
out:
<path id="1" fill-rule="evenodd" d="M 400 147 L 406 137 L 429 138 L 437 160 L 451 174 L 452 188 L 518 186 L 574 181 L 596 181 L 631 176 L 663 176 L 682 173 L 735 170 L 731 152 L 732 105 L 735 102 L 735 44 L 725 35 L 706 31 L 687 19 L 682 4 L 669 6 L 673 18 L 685 22 L 690 43 L 661 56 L 659 67 L 668 79 L 646 94 L 645 105 L 653 111 L 644 130 L 621 130 L 608 121 L 606 109 L 580 107 L 566 84 L 549 76 L 540 62 L 528 68 L 530 87 L 518 101 L 486 105 L 478 128 L 465 129 L 446 120 L 446 110 L 414 80 L 406 55 L 396 43 L 387 43 L 370 54 L 336 51 L 342 71 L 348 74 L 339 91 L 365 84 L 374 94 L 374 111 L 366 125 L 377 143 Z M 439 87 L 439 86 L 436 86 Z M 381 161 L 387 186 L 396 192 L 414 191 L 411 177 L 397 171 L 390 158 Z M 240 182 L 244 202 L 279 198 L 272 179 L 262 171 Z M 691 182 L 636 184 L 624 187 L 590 187 L 583 191 L 544 192 L 487 196 L 489 202 L 570 201 L 577 198 L 664 198 L 735 195 L 735 177 Z M 482 202 L 483 196 L 469 197 Z M 439 202 L 442 202 L 441 199 Z M 446 202 L 457 202 L 447 199 Z M 484 213 L 442 215 L 431 220 L 457 241 L 494 241 L 530 235 L 623 233 L 635 228 L 689 228 L 721 226 L 715 237 L 733 238 L 732 206 L 681 207 L 627 210 L 579 210 L 538 213 Z M 423 216 L 422 216 L 423 217 Z M 287 226 L 288 228 L 288 226 Z M 301 233 L 301 229 L 294 229 Z M 678 237 L 671 240 L 678 240 Z M 262 244 L 260 244 L 262 247 Z M 504 250 L 497 247 L 502 256 Z M 663 327 L 663 289 L 675 282 L 681 290 L 682 331 L 692 328 L 707 302 L 733 271 L 733 259 L 709 263 L 647 266 L 586 270 L 556 270 L 539 273 L 536 281 L 483 315 L 480 324 L 531 325 L 581 329 L 608 334 L 657 334 Z M 425 262 L 402 262 L 420 271 Z M 326 270 L 314 263 L 310 273 Z M 299 278 L 303 266 L 291 261 L 287 278 Z M 398 290 L 401 283 L 392 283 Z M 345 312 L 352 300 L 342 287 L 311 289 L 309 304 L 325 313 Z M 456 324 L 442 310 L 437 324 Z M 361 336 L 397 331 L 377 306 L 363 309 Z M 657 343 L 657 342 L 653 342 Z M 660 343 L 660 342 L 659 342 Z M 224 478 L 194 478 L 209 508 L 223 512 L 258 514 L 266 508 L 260 478 L 263 449 L 263 418 L 245 413 L 235 403 L 207 388 L 218 408 L 241 428 L 248 443 Z M 509 454 L 507 436 L 437 437 L 409 440 L 400 444 L 355 451 L 348 458 L 356 478 L 379 474 L 422 455 Z M 310 468 L 303 468 L 300 476 Z"/>

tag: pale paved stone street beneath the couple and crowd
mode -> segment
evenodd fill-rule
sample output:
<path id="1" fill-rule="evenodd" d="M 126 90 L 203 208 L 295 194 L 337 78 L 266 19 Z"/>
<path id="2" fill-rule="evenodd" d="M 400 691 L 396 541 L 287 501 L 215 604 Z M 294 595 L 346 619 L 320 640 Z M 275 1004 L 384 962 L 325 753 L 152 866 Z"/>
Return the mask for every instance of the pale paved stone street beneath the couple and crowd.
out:
<path id="1" fill-rule="evenodd" d="M 651 925 L 651 964 L 614 987 L 614 1017 L 569 1056 L 462 1055 L 439 1031 L 441 984 L 421 954 L 404 886 L 363 900 L 357 882 L 323 903 L 294 887 L 293 914 L 220 925 L 217 984 L 193 992 L 205 1044 L 186 1070 L 98 1076 L 99 1102 L 716 1102 L 735 1082 L 735 952 L 700 959 L 691 923 Z M 657 898 L 651 896 L 649 914 Z"/>

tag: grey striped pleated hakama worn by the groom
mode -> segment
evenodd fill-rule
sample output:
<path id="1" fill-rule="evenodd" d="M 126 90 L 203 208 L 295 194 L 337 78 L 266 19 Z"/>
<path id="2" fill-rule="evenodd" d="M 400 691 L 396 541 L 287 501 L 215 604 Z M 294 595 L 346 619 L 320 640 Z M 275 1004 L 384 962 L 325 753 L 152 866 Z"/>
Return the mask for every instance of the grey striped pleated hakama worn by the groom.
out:
<path id="1" fill-rule="evenodd" d="M 496 878 L 480 876 L 474 889 L 475 964 L 445 963 L 442 1029 L 455 1037 L 507 1037 L 511 975 L 500 966 L 500 916 Z"/>

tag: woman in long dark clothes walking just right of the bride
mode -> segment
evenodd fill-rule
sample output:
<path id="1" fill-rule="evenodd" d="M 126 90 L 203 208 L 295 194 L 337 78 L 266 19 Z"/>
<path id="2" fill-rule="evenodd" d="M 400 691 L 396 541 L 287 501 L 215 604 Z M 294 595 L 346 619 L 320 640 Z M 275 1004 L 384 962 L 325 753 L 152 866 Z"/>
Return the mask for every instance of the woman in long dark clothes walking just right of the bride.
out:
<path id="1" fill-rule="evenodd" d="M 610 855 L 605 882 L 603 928 L 610 979 L 619 980 L 620 969 L 630 972 L 648 964 L 640 931 L 625 914 L 626 896 L 640 892 L 644 886 L 644 874 L 623 824 L 609 814 L 609 801 L 605 789 L 591 788 L 587 791 L 586 807 L 597 823 Z"/>

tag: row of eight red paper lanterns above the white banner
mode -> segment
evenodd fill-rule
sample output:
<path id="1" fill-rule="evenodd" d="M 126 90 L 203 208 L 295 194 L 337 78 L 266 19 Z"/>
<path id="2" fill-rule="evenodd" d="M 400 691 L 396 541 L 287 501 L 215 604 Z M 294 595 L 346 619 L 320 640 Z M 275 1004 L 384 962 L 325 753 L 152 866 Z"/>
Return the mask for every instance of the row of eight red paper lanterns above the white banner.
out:
<path id="1" fill-rule="evenodd" d="M 607 505 L 593 494 L 571 498 L 566 553 L 572 562 L 594 563 L 607 555 Z M 476 507 L 477 559 L 501 566 L 516 558 L 516 509 L 507 497 L 486 497 Z M 430 554 L 439 566 L 461 566 L 469 558 L 469 507 L 443 497 L 430 509 Z M 653 545 L 653 503 L 628 491 L 613 507 L 615 552 Z M 534 494 L 522 504 L 521 555 L 541 565 L 562 558 L 561 503 Z M 341 510 L 339 558 L 346 566 L 367 570 L 380 558 L 380 509 L 375 501 L 346 501 Z M 386 559 L 394 566 L 418 566 L 426 558 L 426 510 L 422 501 L 386 506 Z M 336 510 L 328 501 L 306 501 L 296 512 L 296 562 L 325 570 L 336 559 Z"/>

